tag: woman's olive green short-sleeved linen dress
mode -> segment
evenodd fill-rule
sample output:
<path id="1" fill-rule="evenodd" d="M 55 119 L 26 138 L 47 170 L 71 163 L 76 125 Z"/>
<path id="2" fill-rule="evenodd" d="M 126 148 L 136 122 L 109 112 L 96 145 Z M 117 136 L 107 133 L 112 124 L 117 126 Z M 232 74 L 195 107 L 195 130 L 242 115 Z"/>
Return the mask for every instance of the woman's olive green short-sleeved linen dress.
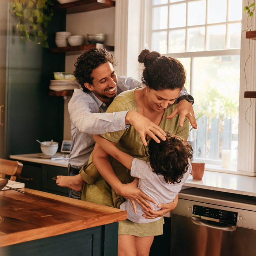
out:
<path id="1" fill-rule="evenodd" d="M 113 113 L 125 110 L 134 110 L 138 112 L 134 90 L 125 91 L 114 98 L 106 112 Z M 177 104 L 169 105 L 163 114 L 160 127 L 163 131 L 169 131 L 175 135 L 179 135 L 184 139 L 189 135 L 189 120 L 186 117 L 183 127 L 180 127 L 180 115 L 176 115 L 172 119 L 166 119 Z M 121 151 L 132 155 L 135 158 L 147 161 L 148 147 L 144 146 L 139 133 L 130 125 L 129 128 L 117 132 L 109 132 L 101 135 L 103 138 L 117 143 L 117 148 Z M 119 163 L 116 159 L 110 157 L 113 170 L 119 180 L 123 183 L 129 183 L 134 180 L 131 177 L 130 170 Z M 92 156 L 89 159 L 87 166 L 84 166 L 80 175 L 87 184 L 84 184 L 82 200 L 105 206 L 119 208 L 125 199 L 116 194 L 109 184 L 101 177 L 96 167 L 92 163 Z M 158 221 L 149 223 L 134 223 L 129 220 L 119 222 L 118 234 L 133 235 L 133 236 L 157 236 L 163 231 L 163 218 Z"/>

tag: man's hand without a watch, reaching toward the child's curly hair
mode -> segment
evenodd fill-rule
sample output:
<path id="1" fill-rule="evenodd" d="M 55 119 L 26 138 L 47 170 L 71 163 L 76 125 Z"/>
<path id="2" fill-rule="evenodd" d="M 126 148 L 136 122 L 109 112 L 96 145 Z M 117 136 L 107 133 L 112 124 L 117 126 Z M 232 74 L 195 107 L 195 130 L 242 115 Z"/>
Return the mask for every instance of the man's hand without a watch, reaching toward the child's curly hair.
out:
<path id="1" fill-rule="evenodd" d="M 160 139 L 162 140 L 166 139 L 165 132 L 158 125 L 154 124 L 147 117 L 142 116 L 136 111 L 133 111 L 133 110 L 128 111 L 125 117 L 125 124 L 131 124 L 134 127 L 134 129 L 140 134 L 140 138 L 145 146 L 147 146 L 147 142 L 145 139 L 146 134 L 150 136 L 153 140 L 155 140 L 157 143 L 160 143 L 160 140 L 154 135 L 154 133 Z"/>

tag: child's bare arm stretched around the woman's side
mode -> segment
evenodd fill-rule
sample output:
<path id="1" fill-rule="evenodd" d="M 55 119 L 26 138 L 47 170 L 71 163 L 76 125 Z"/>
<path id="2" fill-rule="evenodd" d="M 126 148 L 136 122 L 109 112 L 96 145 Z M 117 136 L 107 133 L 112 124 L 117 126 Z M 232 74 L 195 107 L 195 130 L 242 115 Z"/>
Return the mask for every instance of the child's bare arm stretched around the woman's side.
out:
<path id="1" fill-rule="evenodd" d="M 93 139 L 100 147 L 103 148 L 103 150 L 105 150 L 108 154 L 112 155 L 113 158 L 116 158 L 118 162 L 122 163 L 125 167 L 131 170 L 134 157 L 119 150 L 109 140 L 102 138 L 100 135 L 93 135 Z"/>

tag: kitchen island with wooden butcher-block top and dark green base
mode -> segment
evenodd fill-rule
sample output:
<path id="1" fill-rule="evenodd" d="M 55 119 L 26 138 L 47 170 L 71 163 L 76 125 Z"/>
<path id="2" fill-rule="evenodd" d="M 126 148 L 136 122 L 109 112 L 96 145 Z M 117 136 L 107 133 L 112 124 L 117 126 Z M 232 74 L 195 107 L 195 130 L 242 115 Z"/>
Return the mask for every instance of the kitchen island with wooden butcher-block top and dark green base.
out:
<path id="1" fill-rule="evenodd" d="M 54 253 L 55 255 L 68 255 L 68 253 L 69 256 L 80 255 L 75 251 L 70 254 L 70 250 L 74 250 L 76 246 L 76 240 L 71 243 L 73 248 L 71 246 L 69 252 L 61 251 L 61 248 L 65 248 L 63 244 L 65 239 L 67 239 L 65 243 L 71 245 L 69 240 L 74 239 L 72 237 L 74 234 L 82 236 L 82 241 L 88 240 L 91 246 L 96 246 L 98 243 L 99 249 L 104 247 L 101 243 L 104 243 L 105 238 L 115 238 L 116 250 L 114 251 L 117 252 L 118 223 L 115 222 L 126 219 L 126 211 L 33 189 L 20 190 L 25 191 L 25 194 L 12 190 L 0 191 L 0 216 L 4 217 L 4 221 L 0 223 L 0 254 L 4 252 L 1 255 L 38 256 L 46 255 L 46 251 L 47 255 L 54 255 Z M 102 229 L 102 226 L 105 228 Z M 96 233 L 106 233 L 106 226 L 111 227 L 109 230 L 114 233 L 109 233 L 107 237 L 97 238 Z M 97 232 L 96 227 L 98 227 Z M 93 230 L 94 236 L 92 234 L 88 235 L 89 237 L 82 235 L 81 232 L 85 229 L 87 232 Z M 18 246 L 17 244 L 20 243 L 22 243 L 21 246 Z M 49 253 L 48 246 L 59 248 L 59 251 L 54 249 L 55 252 Z M 29 248 L 33 249 L 34 253 L 26 254 Z M 5 254 L 6 252 L 8 253 Z M 103 254 L 95 252 L 93 255 Z"/>

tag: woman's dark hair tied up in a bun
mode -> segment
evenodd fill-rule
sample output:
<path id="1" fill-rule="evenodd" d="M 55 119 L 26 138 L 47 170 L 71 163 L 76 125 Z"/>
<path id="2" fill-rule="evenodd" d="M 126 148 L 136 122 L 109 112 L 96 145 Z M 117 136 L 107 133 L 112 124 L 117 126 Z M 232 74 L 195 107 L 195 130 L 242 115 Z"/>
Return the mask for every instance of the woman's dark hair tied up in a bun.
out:
<path id="1" fill-rule="evenodd" d="M 158 52 L 143 50 L 138 58 L 140 63 L 144 63 L 142 83 L 150 89 L 174 90 L 182 89 L 186 81 L 186 72 L 180 61 L 161 56 Z"/>

